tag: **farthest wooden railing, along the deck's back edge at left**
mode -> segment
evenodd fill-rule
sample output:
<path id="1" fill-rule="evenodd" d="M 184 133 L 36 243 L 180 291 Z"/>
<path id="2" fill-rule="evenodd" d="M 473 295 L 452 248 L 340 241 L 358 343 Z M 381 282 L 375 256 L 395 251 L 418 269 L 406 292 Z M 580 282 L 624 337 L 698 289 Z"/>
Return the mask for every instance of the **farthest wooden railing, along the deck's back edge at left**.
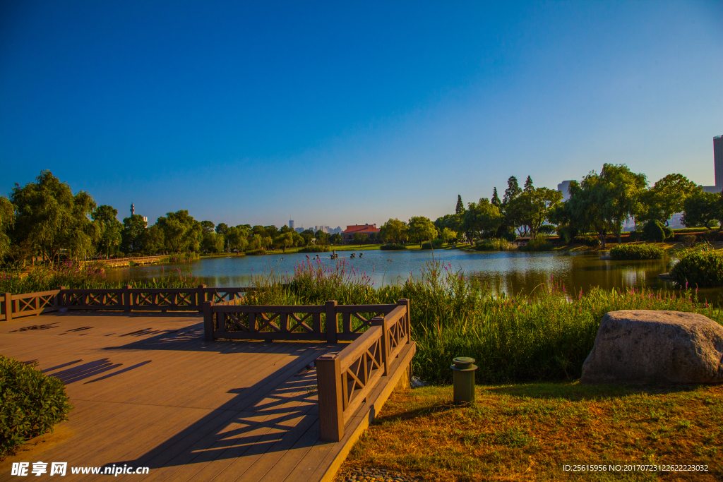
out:
<path id="1" fill-rule="evenodd" d="M 254 288 L 122 288 L 66 289 L 0 296 L 0 320 L 69 310 L 202 311 L 206 301 L 237 302 Z"/>

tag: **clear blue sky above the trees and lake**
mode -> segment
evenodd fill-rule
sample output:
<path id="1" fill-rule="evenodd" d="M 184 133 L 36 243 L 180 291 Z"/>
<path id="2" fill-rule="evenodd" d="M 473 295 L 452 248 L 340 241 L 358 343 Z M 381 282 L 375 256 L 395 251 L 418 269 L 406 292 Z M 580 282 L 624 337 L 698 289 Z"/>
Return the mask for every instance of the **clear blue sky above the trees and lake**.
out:
<path id="1" fill-rule="evenodd" d="M 603 163 L 714 184 L 722 1 L 0 2 L 0 194 L 383 223 Z"/>

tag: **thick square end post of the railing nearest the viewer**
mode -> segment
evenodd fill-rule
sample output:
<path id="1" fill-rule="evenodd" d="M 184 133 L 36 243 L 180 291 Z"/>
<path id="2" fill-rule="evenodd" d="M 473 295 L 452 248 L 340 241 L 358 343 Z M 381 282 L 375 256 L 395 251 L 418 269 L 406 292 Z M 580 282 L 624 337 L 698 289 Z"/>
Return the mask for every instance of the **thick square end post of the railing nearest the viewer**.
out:
<path id="1" fill-rule="evenodd" d="M 344 436 L 344 413 L 341 402 L 341 359 L 327 353 L 316 359 L 319 427 L 321 439 L 339 442 Z"/>

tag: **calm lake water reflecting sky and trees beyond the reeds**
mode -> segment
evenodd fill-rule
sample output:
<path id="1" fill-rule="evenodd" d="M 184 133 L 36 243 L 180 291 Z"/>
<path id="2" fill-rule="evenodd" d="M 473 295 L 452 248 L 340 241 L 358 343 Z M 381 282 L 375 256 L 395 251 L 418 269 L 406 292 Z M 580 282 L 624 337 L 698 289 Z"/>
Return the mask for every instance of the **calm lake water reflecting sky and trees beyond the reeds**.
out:
<path id="1" fill-rule="evenodd" d="M 359 252 L 363 256 L 359 258 Z M 338 260 L 330 260 L 329 253 L 320 253 L 322 262 L 334 266 L 337 261 L 347 262 L 356 270 L 363 270 L 375 285 L 400 283 L 410 276 L 419 277 L 425 262 L 432 260 L 431 251 L 359 251 L 351 259 L 351 251 L 340 251 Z M 311 254 L 309 254 L 311 257 Z M 599 254 L 575 253 L 523 253 L 509 251 L 469 252 L 459 250 L 435 251 L 434 257 L 453 269 L 474 272 L 496 290 L 506 293 L 530 293 L 550 277 L 562 281 L 568 291 L 589 291 L 591 288 L 654 288 L 672 290 L 672 283 L 657 275 L 667 272 L 670 259 L 653 261 L 609 261 Z M 197 259 L 190 264 L 166 264 L 116 268 L 108 270 L 111 281 L 150 280 L 180 267 L 184 272 L 200 277 L 208 286 L 247 286 L 253 275 L 274 270 L 282 274 L 294 273 L 294 267 L 306 262 L 307 255 L 274 254 L 270 256 L 241 256 Z M 719 301 L 723 290 L 701 290 L 709 301 Z"/>

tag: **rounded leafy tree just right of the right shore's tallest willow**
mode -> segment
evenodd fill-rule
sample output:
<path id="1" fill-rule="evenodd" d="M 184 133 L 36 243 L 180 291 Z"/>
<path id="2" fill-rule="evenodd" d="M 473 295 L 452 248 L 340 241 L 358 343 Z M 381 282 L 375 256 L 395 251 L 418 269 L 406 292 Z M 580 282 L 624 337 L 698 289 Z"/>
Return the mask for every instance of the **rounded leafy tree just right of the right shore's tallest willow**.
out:
<path id="1" fill-rule="evenodd" d="M 641 194 L 641 213 L 636 222 L 657 220 L 668 225 L 676 212 L 683 211 L 685 199 L 698 193 L 701 188 L 682 174 L 668 174 Z"/>

